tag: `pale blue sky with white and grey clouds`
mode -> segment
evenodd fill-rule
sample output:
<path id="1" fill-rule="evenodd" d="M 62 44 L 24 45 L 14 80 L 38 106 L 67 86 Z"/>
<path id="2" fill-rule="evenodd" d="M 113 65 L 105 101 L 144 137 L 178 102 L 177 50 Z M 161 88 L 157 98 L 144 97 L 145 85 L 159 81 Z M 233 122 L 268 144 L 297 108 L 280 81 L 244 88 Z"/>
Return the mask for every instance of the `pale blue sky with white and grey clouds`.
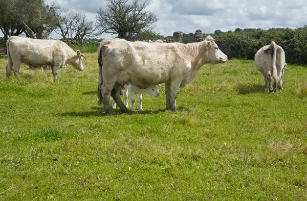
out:
<path id="1" fill-rule="evenodd" d="M 145 0 L 140 0 L 145 1 Z M 94 19 L 105 0 L 45 0 Z M 307 25 L 307 0 L 147 0 L 147 9 L 159 20 L 154 31 L 172 36 L 175 31 L 203 33 L 234 31 L 236 28 L 299 28 Z M 116 37 L 102 34 L 100 38 Z M 52 37 L 56 37 L 53 34 Z"/>

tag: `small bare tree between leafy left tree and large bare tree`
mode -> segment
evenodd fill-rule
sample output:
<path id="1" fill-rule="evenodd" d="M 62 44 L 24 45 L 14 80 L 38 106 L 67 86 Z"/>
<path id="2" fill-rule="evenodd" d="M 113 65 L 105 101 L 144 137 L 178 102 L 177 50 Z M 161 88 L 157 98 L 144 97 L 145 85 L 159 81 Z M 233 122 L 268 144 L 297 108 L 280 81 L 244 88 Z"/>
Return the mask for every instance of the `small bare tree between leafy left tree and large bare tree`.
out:
<path id="1" fill-rule="evenodd" d="M 84 37 L 97 37 L 95 24 L 88 20 L 86 15 L 75 11 L 64 11 L 64 14 L 56 18 L 56 33 L 60 34 L 63 39 L 71 38 L 78 40 L 83 45 Z"/>

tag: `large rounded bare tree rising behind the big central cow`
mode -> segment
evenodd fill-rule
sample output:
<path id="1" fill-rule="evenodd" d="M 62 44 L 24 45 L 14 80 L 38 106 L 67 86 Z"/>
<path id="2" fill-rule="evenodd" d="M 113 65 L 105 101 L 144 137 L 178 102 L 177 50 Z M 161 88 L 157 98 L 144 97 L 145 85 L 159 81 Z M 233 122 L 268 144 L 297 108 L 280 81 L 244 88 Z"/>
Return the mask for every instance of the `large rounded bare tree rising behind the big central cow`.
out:
<path id="1" fill-rule="evenodd" d="M 118 38 L 131 39 L 141 31 L 152 31 L 153 23 L 158 21 L 155 13 L 146 10 L 148 4 L 133 0 L 106 0 L 106 8 L 99 8 L 96 27 L 100 33 L 118 34 Z"/>

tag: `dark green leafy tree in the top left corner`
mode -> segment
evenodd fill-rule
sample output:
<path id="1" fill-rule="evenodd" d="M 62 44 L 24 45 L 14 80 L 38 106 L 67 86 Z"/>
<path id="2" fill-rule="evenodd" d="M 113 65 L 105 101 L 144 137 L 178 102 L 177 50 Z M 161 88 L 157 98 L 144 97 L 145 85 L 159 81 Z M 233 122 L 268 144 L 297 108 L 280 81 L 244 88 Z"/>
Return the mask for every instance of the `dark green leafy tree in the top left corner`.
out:
<path id="1" fill-rule="evenodd" d="M 1 0 L 1 31 L 5 37 L 24 32 L 31 38 L 47 38 L 54 29 L 54 15 L 58 10 L 57 5 L 46 5 L 43 0 Z"/>

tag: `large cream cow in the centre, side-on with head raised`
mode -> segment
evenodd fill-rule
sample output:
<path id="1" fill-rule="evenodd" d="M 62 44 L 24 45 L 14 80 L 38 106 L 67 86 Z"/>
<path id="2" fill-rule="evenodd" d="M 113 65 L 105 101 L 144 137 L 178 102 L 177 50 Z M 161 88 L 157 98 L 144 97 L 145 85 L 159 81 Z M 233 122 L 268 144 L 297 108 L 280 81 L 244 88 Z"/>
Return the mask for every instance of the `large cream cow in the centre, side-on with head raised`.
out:
<path id="1" fill-rule="evenodd" d="M 227 61 L 214 40 L 207 37 L 202 42 L 188 44 L 103 40 L 98 47 L 98 104 L 103 101 L 104 112 L 110 113 L 111 95 L 120 109 L 129 113 L 120 99 L 124 84 L 146 88 L 165 83 L 166 109 L 176 113 L 179 88 L 192 82 L 204 64 Z"/>

